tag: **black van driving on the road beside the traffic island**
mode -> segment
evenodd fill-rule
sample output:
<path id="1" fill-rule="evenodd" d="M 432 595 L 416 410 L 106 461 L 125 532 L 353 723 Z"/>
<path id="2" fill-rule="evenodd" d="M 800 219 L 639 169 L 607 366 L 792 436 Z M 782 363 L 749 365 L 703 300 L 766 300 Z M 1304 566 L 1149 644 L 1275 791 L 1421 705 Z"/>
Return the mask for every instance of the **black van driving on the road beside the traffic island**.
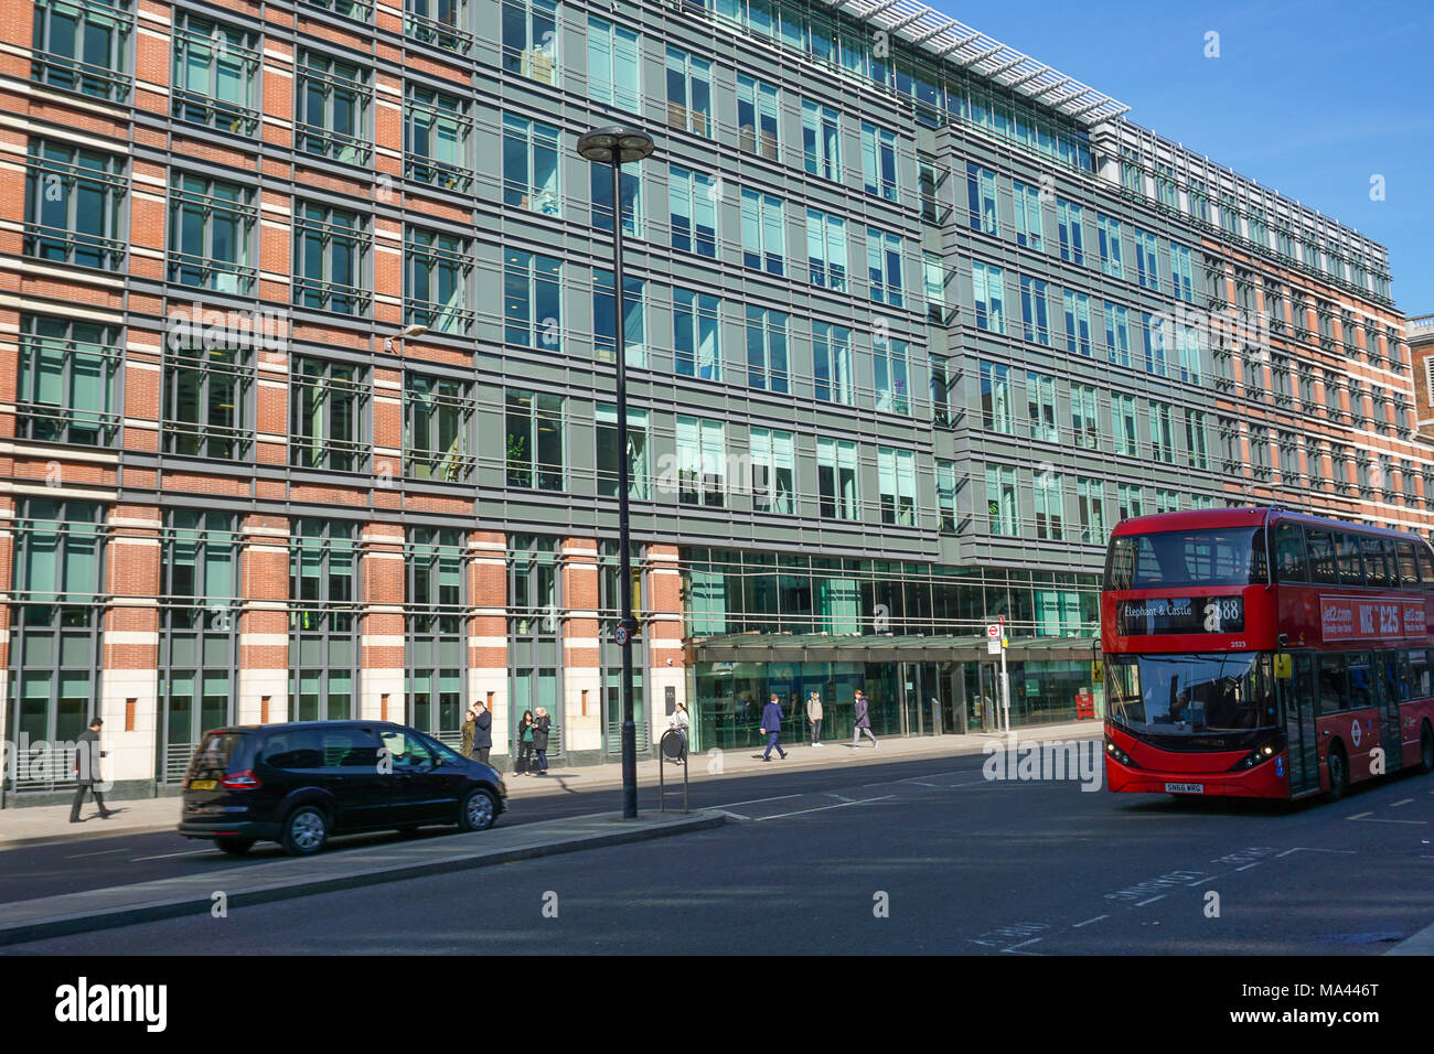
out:
<path id="1" fill-rule="evenodd" d="M 227 853 L 258 840 L 294 856 L 330 835 L 456 823 L 485 830 L 506 807 L 496 769 L 389 721 L 298 721 L 204 734 L 184 784 L 179 833 Z"/>

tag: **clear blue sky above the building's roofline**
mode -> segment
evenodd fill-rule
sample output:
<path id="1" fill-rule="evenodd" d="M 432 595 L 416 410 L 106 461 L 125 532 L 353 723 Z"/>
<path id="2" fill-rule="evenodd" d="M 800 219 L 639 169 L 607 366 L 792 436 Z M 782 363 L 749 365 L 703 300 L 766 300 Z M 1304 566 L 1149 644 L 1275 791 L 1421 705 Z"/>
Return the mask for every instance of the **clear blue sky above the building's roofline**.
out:
<path id="1" fill-rule="evenodd" d="M 1130 106 L 1126 116 L 1390 250 L 1434 313 L 1434 4 L 926 0 Z M 1220 57 L 1205 57 L 1206 33 Z M 1385 199 L 1369 199 L 1382 175 Z"/>

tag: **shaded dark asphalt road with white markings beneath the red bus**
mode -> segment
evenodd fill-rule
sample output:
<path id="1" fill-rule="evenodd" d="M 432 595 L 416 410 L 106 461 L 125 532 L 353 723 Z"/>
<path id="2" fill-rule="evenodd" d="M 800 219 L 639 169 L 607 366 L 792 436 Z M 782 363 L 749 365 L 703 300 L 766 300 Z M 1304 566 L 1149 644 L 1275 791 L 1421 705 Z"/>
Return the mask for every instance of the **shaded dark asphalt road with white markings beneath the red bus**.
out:
<path id="1" fill-rule="evenodd" d="M 989 782 L 982 761 L 714 782 L 695 803 L 731 820 L 711 832 L 6 951 L 1359 956 L 1434 924 L 1434 777 L 1291 806 Z M 512 822 L 617 792 L 519 804 Z"/>

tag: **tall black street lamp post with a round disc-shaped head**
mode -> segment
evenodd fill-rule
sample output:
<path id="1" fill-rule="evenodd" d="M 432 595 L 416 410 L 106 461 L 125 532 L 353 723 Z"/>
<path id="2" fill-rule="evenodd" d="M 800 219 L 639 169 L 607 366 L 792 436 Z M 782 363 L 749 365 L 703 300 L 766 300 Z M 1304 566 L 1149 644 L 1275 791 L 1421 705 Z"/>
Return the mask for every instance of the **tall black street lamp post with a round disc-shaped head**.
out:
<path id="1" fill-rule="evenodd" d="M 618 403 L 618 591 L 622 594 L 617 640 L 622 650 L 622 817 L 637 819 L 637 724 L 632 720 L 632 556 L 628 549 L 627 453 L 627 304 L 622 288 L 622 165 L 652 152 L 652 136 L 611 125 L 578 136 L 578 153 L 612 169 L 612 304 Z"/>

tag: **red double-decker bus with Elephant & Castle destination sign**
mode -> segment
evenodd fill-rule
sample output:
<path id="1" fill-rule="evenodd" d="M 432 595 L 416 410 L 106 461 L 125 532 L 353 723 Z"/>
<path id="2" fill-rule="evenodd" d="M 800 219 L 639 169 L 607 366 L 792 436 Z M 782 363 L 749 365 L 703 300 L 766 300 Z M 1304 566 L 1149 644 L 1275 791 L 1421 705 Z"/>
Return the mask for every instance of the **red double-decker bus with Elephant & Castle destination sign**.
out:
<path id="1" fill-rule="evenodd" d="M 1100 599 L 1110 790 L 1339 797 L 1434 770 L 1434 549 L 1281 508 L 1114 529 Z"/>

